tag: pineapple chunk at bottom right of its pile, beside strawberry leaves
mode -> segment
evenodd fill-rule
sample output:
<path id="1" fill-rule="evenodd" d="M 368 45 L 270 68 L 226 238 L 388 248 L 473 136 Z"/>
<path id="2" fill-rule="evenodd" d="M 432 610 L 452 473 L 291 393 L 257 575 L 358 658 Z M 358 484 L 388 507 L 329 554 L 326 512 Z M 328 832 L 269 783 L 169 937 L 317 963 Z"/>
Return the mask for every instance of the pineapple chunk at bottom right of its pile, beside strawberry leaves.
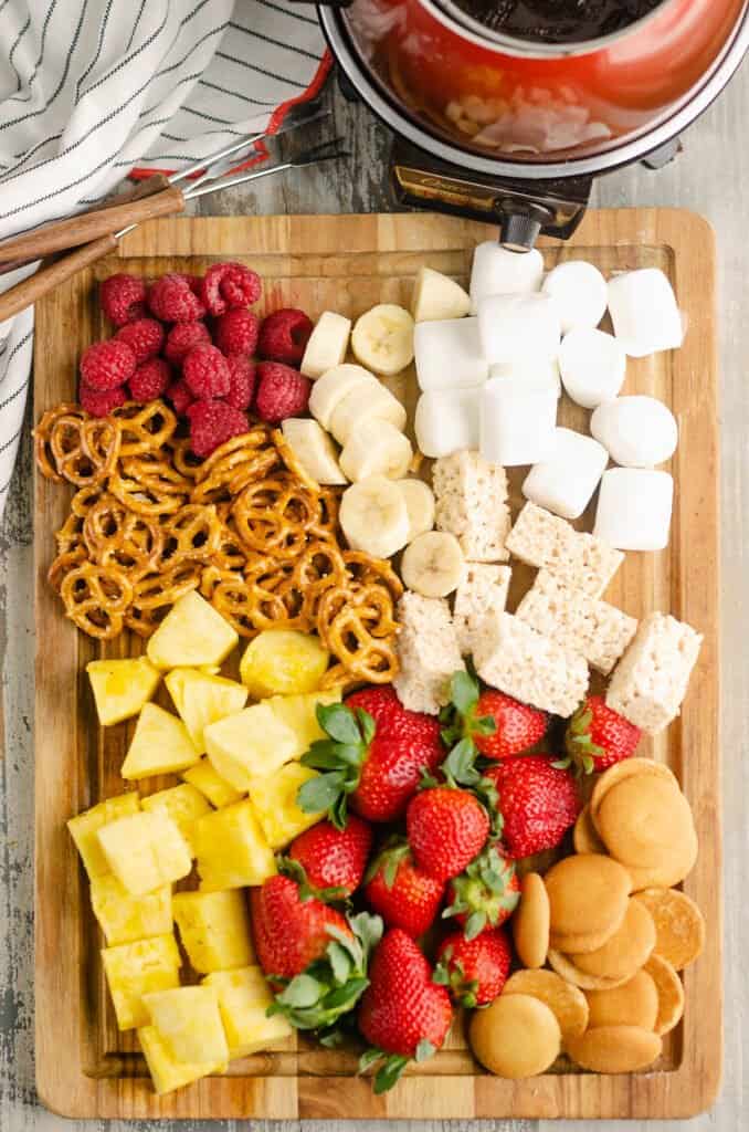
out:
<path id="1" fill-rule="evenodd" d="M 203 983 L 218 993 L 230 1060 L 268 1049 L 294 1032 L 282 1014 L 266 1018 L 273 994 L 259 967 L 215 971 Z"/>

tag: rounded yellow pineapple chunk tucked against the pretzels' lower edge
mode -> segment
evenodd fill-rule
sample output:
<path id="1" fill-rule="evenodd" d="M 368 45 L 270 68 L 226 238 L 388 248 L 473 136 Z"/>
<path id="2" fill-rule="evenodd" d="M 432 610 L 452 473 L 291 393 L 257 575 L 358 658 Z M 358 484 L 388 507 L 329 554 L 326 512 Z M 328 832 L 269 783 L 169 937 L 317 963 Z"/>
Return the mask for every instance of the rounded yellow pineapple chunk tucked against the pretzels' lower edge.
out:
<path id="1" fill-rule="evenodd" d="M 256 700 L 317 692 L 330 659 L 320 638 L 296 629 L 264 629 L 248 644 L 240 677 Z"/>

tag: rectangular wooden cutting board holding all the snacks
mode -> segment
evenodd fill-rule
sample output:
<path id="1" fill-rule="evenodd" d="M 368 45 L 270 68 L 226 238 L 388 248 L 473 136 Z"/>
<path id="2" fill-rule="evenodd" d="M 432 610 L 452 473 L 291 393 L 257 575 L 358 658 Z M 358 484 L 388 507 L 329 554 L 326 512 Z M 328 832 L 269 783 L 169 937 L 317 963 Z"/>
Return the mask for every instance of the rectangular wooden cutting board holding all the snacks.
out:
<path id="1" fill-rule="evenodd" d="M 407 305 L 422 264 L 465 278 L 474 246 L 493 235 L 475 223 L 429 215 L 260 216 L 158 220 L 127 237 L 119 252 L 37 307 L 35 417 L 74 400 L 81 350 L 106 336 L 96 281 L 113 272 L 154 276 L 201 272 L 239 258 L 265 278 L 264 305 L 329 308 L 356 316 L 376 302 Z M 75 1117 L 637 1117 L 674 1118 L 705 1109 L 722 1061 L 721 813 L 718 748 L 717 375 L 715 251 L 705 221 L 662 209 L 588 213 L 567 245 L 543 243 L 549 267 L 584 257 L 605 273 L 661 267 L 689 331 L 682 350 L 630 361 L 626 393 L 671 405 L 681 440 L 673 458 L 675 509 L 661 554 L 628 555 L 608 598 L 642 617 L 672 612 L 705 634 L 683 713 L 643 753 L 668 763 L 689 798 L 700 838 L 685 891 L 707 919 L 707 945 L 686 971 L 687 1010 L 652 1071 L 626 1077 L 582 1073 L 560 1060 L 528 1081 L 483 1073 L 458 1022 L 447 1048 L 384 1097 L 356 1078 L 355 1060 L 294 1038 L 231 1065 L 225 1077 L 157 1098 L 131 1035 L 113 1026 L 87 883 L 64 823 L 121 791 L 119 767 L 131 726 L 97 727 L 85 663 L 97 652 L 61 614 L 45 582 L 52 533 L 69 492 L 36 477 L 36 1074 L 42 1100 Z M 415 380 L 402 383 L 408 409 Z M 560 421 L 584 429 L 588 414 L 562 398 Z M 511 477 L 519 504 L 522 474 Z M 579 525 L 589 529 L 591 515 Z M 514 608 L 514 606 L 511 606 Z M 107 655 L 139 651 L 127 638 Z M 163 780 L 154 788 L 165 784 Z"/>

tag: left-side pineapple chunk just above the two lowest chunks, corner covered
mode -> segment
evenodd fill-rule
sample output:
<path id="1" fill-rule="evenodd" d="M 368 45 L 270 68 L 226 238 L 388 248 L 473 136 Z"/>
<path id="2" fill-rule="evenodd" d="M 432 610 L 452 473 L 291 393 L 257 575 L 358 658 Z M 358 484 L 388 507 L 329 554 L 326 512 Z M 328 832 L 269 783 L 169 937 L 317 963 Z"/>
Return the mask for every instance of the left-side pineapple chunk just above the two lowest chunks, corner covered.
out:
<path id="1" fill-rule="evenodd" d="M 102 962 L 121 1030 L 148 1024 L 144 995 L 180 985 L 180 950 L 171 934 L 104 947 Z"/>

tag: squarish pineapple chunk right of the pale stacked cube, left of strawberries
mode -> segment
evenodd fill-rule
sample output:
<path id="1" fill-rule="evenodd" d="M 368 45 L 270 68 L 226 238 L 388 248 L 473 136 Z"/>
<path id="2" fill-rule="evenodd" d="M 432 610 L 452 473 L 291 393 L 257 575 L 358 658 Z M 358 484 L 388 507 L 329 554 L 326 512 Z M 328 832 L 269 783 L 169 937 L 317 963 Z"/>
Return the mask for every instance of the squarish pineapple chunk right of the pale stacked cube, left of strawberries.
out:
<path id="1" fill-rule="evenodd" d="M 198 818 L 196 856 L 203 892 L 262 884 L 277 872 L 249 800 Z"/>

